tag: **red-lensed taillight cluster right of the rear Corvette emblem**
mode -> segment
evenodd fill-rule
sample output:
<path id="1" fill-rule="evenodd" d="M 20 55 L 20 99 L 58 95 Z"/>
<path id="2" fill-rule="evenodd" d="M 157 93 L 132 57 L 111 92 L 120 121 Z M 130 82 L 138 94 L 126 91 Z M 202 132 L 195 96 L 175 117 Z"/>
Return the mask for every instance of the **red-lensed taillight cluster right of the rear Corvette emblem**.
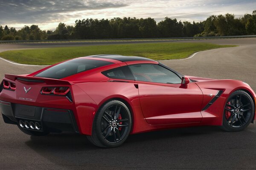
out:
<path id="1" fill-rule="evenodd" d="M 43 87 L 41 89 L 41 94 L 66 96 L 70 102 L 73 101 L 69 87 Z"/>

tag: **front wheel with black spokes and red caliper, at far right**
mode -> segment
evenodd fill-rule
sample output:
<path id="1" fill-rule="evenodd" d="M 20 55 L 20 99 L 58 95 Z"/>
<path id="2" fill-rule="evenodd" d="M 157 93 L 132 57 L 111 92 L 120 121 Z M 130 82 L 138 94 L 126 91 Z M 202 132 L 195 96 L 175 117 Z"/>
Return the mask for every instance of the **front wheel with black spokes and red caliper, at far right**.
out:
<path id="1" fill-rule="evenodd" d="M 228 132 L 244 130 L 254 115 L 253 99 L 245 91 L 233 92 L 224 107 L 221 129 Z"/>

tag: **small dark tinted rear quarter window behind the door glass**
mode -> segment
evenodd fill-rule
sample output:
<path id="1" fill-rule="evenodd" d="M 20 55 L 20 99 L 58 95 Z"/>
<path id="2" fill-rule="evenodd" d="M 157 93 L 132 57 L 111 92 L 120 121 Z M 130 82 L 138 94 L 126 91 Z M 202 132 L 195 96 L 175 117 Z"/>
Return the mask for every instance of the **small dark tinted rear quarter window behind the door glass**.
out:
<path id="1" fill-rule="evenodd" d="M 113 68 L 111 70 L 103 71 L 102 74 L 113 79 L 135 79 L 128 66 L 122 66 L 118 68 Z"/>

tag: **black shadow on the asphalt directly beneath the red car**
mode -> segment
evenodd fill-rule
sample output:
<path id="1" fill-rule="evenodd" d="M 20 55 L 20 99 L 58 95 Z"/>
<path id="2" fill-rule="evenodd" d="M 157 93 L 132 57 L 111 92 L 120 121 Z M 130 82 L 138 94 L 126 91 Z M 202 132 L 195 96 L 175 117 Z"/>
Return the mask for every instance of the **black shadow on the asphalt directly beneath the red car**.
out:
<path id="1" fill-rule="evenodd" d="M 218 127 L 187 127 L 179 129 L 170 130 L 160 130 L 147 133 L 138 133 L 128 136 L 128 139 L 123 145 L 138 144 L 140 142 L 147 143 L 163 141 L 165 139 L 172 139 L 177 137 L 189 137 L 197 136 L 202 134 L 223 132 Z M 55 150 L 65 150 L 65 149 L 90 149 L 95 150 L 99 147 L 95 147 L 91 144 L 85 135 L 80 135 L 77 133 L 50 133 L 47 136 L 31 136 L 30 141 L 26 142 L 29 147 L 54 147 Z M 121 146 L 122 147 L 122 146 Z"/>

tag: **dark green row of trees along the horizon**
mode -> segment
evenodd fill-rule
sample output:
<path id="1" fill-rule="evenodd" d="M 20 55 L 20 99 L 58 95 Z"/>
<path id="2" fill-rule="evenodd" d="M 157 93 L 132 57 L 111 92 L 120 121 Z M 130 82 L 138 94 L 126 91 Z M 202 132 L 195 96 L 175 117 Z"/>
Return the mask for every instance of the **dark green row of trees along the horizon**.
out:
<path id="1" fill-rule="evenodd" d="M 37 25 L 20 30 L 0 26 L 0 40 L 67 40 L 118 38 L 209 37 L 256 34 L 256 10 L 235 18 L 234 14 L 212 15 L 203 22 L 177 21 L 166 17 L 157 23 L 153 18 L 113 18 L 76 20 L 74 26 L 59 23 L 55 31 Z"/>

